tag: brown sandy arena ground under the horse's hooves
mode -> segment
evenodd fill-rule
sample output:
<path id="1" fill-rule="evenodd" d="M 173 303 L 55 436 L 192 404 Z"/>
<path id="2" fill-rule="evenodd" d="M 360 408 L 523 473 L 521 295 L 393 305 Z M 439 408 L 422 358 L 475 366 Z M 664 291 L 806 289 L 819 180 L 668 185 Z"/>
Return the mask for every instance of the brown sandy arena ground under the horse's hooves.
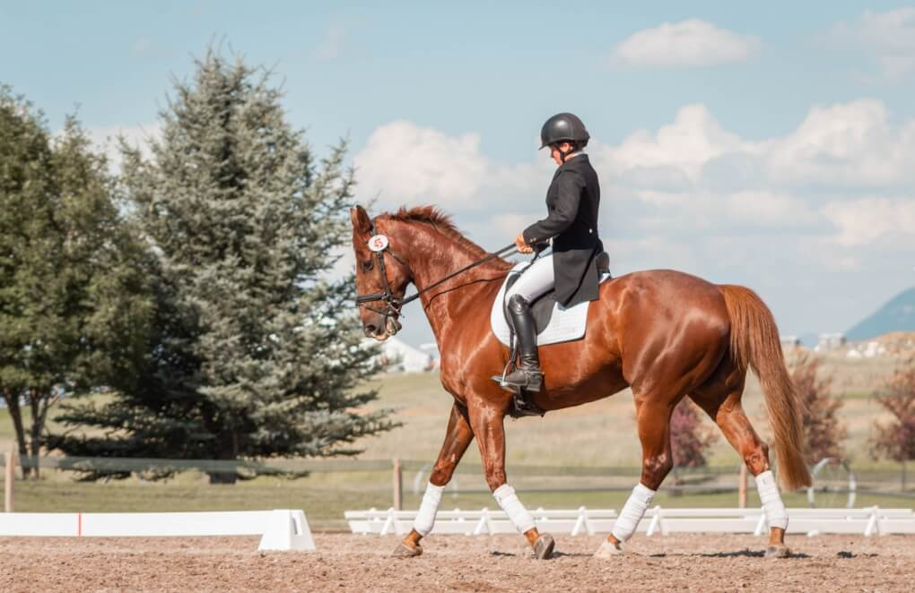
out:
<path id="1" fill-rule="evenodd" d="M 418 558 L 397 539 L 318 534 L 318 552 L 259 553 L 257 538 L 0 538 L 3 591 L 911 591 L 915 537 L 790 539 L 795 557 L 762 557 L 749 535 L 637 536 L 610 562 L 600 536 L 556 538 L 536 561 L 521 536 L 431 536 Z"/>

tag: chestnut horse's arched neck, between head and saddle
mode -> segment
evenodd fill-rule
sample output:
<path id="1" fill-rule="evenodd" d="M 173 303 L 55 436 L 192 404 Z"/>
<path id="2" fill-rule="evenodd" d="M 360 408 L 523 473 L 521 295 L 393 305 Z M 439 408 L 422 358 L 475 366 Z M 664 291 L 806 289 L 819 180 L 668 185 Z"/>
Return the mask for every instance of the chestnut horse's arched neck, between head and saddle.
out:
<path id="1" fill-rule="evenodd" d="M 425 287 L 440 281 L 477 259 L 486 256 L 482 249 L 473 247 L 448 237 L 435 228 L 424 224 L 406 225 L 409 232 L 404 237 L 409 237 L 410 245 L 407 253 L 402 254 L 413 270 L 414 285 L 422 291 Z M 420 294 L 425 316 L 436 334 L 439 350 L 443 348 L 442 342 L 447 340 L 449 329 L 456 323 L 473 323 L 475 318 L 457 313 L 468 308 L 479 310 L 479 318 L 490 319 L 489 310 L 482 303 L 490 304 L 491 296 L 499 290 L 500 281 L 505 278 L 510 266 L 501 259 L 487 262 L 467 270 L 455 278 L 442 283 L 435 288 Z"/>

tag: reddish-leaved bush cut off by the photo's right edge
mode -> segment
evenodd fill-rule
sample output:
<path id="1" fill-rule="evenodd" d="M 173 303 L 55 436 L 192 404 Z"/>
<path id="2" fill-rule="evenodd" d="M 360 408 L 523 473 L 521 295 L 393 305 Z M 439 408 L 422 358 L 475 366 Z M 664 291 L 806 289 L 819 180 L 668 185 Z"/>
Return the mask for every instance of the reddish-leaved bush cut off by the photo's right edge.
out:
<path id="1" fill-rule="evenodd" d="M 893 461 L 915 460 L 915 360 L 887 380 L 877 392 L 877 403 L 893 419 L 875 423 L 871 452 Z"/>

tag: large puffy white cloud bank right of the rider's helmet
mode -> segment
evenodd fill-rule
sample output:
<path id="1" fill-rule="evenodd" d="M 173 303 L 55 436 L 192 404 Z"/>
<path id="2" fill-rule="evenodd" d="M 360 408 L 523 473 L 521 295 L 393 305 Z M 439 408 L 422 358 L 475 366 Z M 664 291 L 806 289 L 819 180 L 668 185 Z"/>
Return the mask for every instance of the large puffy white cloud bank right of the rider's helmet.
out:
<path id="1" fill-rule="evenodd" d="M 850 101 L 813 107 L 784 136 L 748 141 L 724 130 L 705 106 L 688 105 L 657 132 L 632 132 L 616 146 L 595 143 L 591 152 L 634 186 L 904 185 L 915 183 L 915 119 L 893 122 L 882 101 Z"/>

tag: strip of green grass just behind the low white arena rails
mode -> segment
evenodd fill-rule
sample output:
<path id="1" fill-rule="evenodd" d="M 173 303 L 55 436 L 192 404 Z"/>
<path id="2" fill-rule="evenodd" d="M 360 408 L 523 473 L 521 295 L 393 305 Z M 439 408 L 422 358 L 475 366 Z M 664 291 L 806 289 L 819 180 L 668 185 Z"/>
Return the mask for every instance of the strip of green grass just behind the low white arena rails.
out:
<path id="1" fill-rule="evenodd" d="M 179 511 L 243 511 L 274 508 L 304 509 L 308 521 L 321 529 L 344 528 L 343 512 L 371 507 L 386 509 L 392 505 L 388 475 L 353 483 L 333 483 L 328 476 L 285 480 L 262 477 L 235 485 L 211 485 L 192 472 L 177 480 L 139 482 L 136 479 L 118 482 L 72 482 L 55 479 L 16 482 L 16 511 L 32 513 L 81 512 L 179 512 Z M 480 480 L 481 482 L 481 480 Z M 481 484 L 472 484 L 479 487 Z M 629 492 L 566 491 L 525 492 L 519 489 L 522 501 L 529 508 L 615 508 L 625 503 Z M 404 508 L 415 509 L 421 494 L 404 492 Z M 654 503 L 667 507 L 729 507 L 737 504 L 735 492 L 688 494 L 675 496 L 659 492 Z M 788 506 L 807 506 L 801 493 L 785 495 Z M 878 504 L 884 508 L 910 508 L 913 499 L 889 496 L 859 495 L 856 506 Z M 756 492 L 748 492 L 748 505 L 759 506 Z M 446 492 L 443 509 L 497 508 L 489 492 Z"/>

